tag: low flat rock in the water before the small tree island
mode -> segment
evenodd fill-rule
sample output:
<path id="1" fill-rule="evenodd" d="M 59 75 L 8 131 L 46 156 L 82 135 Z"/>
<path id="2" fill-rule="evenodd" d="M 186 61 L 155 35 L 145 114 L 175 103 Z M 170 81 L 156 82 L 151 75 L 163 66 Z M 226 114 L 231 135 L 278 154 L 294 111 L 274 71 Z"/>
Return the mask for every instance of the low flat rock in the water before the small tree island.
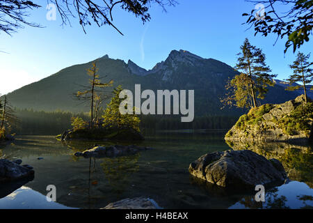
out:
<path id="1" fill-rule="evenodd" d="M 123 155 L 132 155 L 136 154 L 139 151 L 146 151 L 151 149 L 149 147 L 140 147 L 140 146 L 95 146 L 94 148 L 90 148 L 86 151 L 77 152 L 75 156 L 83 156 L 83 157 L 118 157 Z"/>

